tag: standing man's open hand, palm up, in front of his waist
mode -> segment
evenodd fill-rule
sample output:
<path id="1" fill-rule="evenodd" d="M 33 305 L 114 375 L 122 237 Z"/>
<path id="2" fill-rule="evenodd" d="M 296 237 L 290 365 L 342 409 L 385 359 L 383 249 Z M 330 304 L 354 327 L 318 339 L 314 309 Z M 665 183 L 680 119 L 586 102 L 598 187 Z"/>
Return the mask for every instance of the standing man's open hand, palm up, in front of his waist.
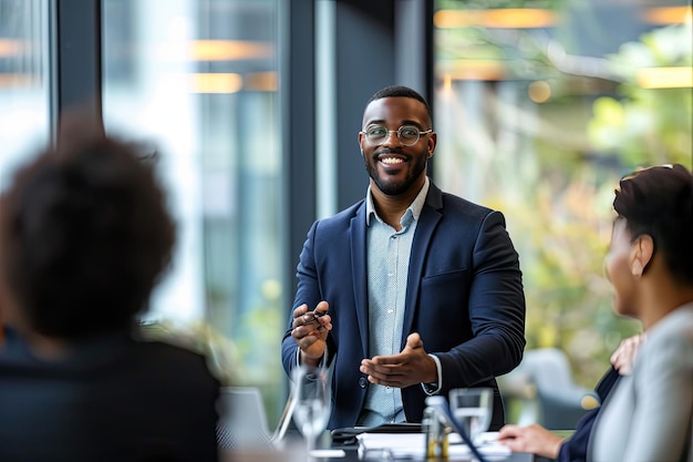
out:
<path id="1" fill-rule="evenodd" d="M 424 350 L 424 342 L 416 332 L 406 338 L 400 353 L 362 359 L 359 370 L 368 373 L 369 382 L 386 387 L 405 388 L 437 380 L 435 361 Z"/>

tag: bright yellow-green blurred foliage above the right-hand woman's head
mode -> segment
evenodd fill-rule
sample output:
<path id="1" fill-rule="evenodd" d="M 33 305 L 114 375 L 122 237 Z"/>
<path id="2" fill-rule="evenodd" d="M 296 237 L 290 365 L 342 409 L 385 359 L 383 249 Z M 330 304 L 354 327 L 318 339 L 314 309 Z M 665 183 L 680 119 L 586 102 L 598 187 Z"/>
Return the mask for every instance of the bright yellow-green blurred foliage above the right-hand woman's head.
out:
<path id="1" fill-rule="evenodd" d="M 623 44 L 608 62 L 622 83 L 619 97 L 601 96 L 594 102 L 588 126 L 594 148 L 618 153 L 630 165 L 690 165 L 693 91 L 691 86 L 661 88 L 661 82 L 659 88 L 651 85 L 662 69 L 693 80 L 691 22 L 648 32 L 639 42 Z"/>

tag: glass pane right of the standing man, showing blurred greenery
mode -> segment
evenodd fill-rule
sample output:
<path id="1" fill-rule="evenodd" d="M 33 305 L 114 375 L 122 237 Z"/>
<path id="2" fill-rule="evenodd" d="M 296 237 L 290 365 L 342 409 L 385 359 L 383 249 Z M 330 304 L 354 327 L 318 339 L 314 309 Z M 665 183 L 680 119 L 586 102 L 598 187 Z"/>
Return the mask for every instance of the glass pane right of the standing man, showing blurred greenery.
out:
<path id="1" fill-rule="evenodd" d="M 435 178 L 505 213 L 528 349 L 569 353 L 592 388 L 621 337 L 602 261 L 618 178 L 692 163 L 691 7 L 436 1 Z"/>

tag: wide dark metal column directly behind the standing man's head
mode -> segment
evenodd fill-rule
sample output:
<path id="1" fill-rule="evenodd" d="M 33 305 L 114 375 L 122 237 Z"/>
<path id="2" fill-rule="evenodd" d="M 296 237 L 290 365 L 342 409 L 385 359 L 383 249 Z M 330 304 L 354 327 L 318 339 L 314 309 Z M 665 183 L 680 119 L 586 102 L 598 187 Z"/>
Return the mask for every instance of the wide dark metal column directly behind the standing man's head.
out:
<path id="1" fill-rule="evenodd" d="M 433 100 L 433 2 L 337 0 L 338 208 L 365 195 L 358 132 L 368 99 L 403 84 Z"/>

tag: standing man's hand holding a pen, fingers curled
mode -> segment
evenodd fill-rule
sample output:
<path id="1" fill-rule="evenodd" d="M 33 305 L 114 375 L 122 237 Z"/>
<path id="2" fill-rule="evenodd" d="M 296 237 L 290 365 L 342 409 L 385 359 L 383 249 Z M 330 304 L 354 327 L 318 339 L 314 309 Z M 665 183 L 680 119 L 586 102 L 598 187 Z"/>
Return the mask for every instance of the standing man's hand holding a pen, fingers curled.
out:
<path id="1" fill-rule="evenodd" d="M 321 301 L 311 312 L 306 304 L 293 310 L 291 337 L 301 349 L 301 362 L 317 366 L 324 355 L 328 333 L 332 330 L 332 318 L 327 314 L 329 307 L 327 301 Z"/>

